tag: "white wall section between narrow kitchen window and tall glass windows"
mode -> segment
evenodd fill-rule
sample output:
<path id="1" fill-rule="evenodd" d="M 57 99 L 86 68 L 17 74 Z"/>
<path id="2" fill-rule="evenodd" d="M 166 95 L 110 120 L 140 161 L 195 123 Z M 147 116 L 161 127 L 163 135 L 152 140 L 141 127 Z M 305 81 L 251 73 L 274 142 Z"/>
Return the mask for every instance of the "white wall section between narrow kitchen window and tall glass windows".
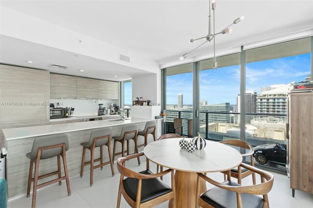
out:
<path id="1" fill-rule="evenodd" d="M 152 100 L 152 104 L 160 104 L 160 73 L 133 77 L 132 96 L 142 96 L 143 100 Z"/>

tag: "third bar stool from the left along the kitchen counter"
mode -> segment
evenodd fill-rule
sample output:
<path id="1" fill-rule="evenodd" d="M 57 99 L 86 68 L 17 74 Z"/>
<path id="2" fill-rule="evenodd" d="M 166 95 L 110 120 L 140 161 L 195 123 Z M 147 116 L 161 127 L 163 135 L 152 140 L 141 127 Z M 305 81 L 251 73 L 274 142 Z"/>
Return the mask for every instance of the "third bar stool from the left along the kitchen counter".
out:
<path id="1" fill-rule="evenodd" d="M 134 153 L 138 153 L 138 146 L 137 146 L 137 133 L 138 133 L 138 125 L 133 124 L 133 125 L 124 125 L 122 127 L 122 132 L 120 136 L 114 136 L 114 148 L 113 148 L 113 161 L 115 155 L 122 154 L 122 157 L 124 157 L 124 153 L 127 152 L 127 155 L 129 155 L 129 140 L 134 140 Z M 125 150 L 125 141 L 127 141 L 127 150 Z M 122 151 L 115 153 L 116 149 L 116 142 L 120 142 L 122 145 Z M 140 159 L 138 159 L 138 165 L 140 165 Z"/>

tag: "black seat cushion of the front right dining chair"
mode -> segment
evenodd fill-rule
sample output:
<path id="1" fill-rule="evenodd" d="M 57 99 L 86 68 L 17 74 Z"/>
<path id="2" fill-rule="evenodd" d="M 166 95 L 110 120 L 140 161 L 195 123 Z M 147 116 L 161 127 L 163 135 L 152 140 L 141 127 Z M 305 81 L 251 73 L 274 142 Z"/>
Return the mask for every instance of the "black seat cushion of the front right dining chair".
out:
<path id="1" fill-rule="evenodd" d="M 233 181 L 225 181 L 228 186 L 240 186 Z M 234 191 L 214 187 L 202 194 L 201 199 L 215 208 L 237 208 L 237 195 Z M 260 196 L 241 194 L 243 208 L 262 208 L 264 201 Z"/>

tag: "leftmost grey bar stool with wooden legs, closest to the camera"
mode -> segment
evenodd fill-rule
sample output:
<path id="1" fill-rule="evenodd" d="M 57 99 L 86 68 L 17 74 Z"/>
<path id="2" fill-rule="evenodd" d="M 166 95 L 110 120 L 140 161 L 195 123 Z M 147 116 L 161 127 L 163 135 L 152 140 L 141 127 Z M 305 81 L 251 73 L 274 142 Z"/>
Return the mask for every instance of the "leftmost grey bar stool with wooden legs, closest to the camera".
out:
<path id="1" fill-rule="evenodd" d="M 41 137 L 36 137 L 34 139 L 31 152 L 26 153 L 26 157 L 30 159 L 26 197 L 30 196 L 31 182 L 34 182 L 32 208 L 36 207 L 36 195 L 37 195 L 38 188 L 45 187 L 56 182 L 59 182 L 59 186 L 60 186 L 62 180 L 66 180 L 67 195 L 70 196 L 70 187 L 69 187 L 68 172 L 67 172 L 67 159 L 66 159 L 66 154 L 65 154 L 67 149 L 68 149 L 68 138 L 66 134 L 41 136 Z M 62 156 L 63 165 L 64 165 L 65 176 L 63 177 L 61 177 L 60 156 Z M 40 160 L 52 158 L 52 157 L 57 157 L 58 159 L 58 170 L 39 176 L 38 172 L 39 172 Z M 35 173 L 34 173 L 34 178 L 32 178 L 34 164 L 35 164 Z M 57 179 L 38 185 L 38 180 L 52 176 L 52 175 L 56 175 L 56 174 L 58 174 Z"/>

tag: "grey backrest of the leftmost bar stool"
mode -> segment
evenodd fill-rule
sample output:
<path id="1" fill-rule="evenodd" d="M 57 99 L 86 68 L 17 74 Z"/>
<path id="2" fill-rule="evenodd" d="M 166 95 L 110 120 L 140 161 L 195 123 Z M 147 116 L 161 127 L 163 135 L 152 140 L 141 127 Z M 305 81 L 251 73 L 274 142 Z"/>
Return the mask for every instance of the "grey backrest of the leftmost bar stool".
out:
<path id="1" fill-rule="evenodd" d="M 65 150 L 67 151 L 68 149 L 67 134 L 55 134 L 55 135 L 36 137 L 34 139 L 33 146 L 31 148 L 30 159 L 34 160 L 37 158 L 39 148 L 47 147 L 47 146 L 55 146 L 55 145 L 60 145 L 60 144 L 65 144 Z M 40 159 L 55 157 L 57 155 L 62 154 L 62 152 L 63 152 L 62 147 L 45 149 L 42 151 Z"/>

